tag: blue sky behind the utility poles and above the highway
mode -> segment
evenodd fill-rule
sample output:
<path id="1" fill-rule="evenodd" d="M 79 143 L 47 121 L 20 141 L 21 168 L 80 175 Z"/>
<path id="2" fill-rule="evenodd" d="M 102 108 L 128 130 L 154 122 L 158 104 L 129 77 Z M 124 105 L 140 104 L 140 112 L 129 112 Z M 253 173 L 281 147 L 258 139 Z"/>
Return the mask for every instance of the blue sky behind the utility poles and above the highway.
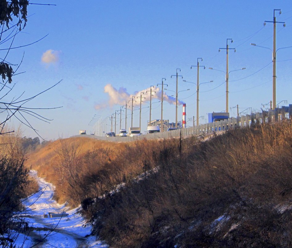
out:
<path id="1" fill-rule="evenodd" d="M 203 58 L 200 65 L 206 66 L 205 70 L 200 68 L 199 81 L 214 81 L 200 86 L 199 115 L 205 118 L 200 123 L 206 123 L 208 112 L 225 110 L 225 74 L 208 67 L 226 70 L 226 50 L 218 49 L 226 47 L 227 38 L 233 39 L 229 47 L 236 48 L 236 53 L 229 51 L 229 71 L 246 67 L 229 74 L 229 107 L 238 104 L 240 111 L 249 107 L 260 110 L 261 104 L 272 100 L 272 52 L 250 43 L 273 48 L 273 24 L 263 26 L 265 20 L 273 20 L 273 9 L 281 9 L 281 15 L 276 11 L 277 21 L 286 22 L 285 28 L 277 24 L 277 48 L 292 46 L 290 1 L 38 2 L 56 6 L 30 5 L 27 26 L 14 45 L 48 36 L 9 54 L 9 62 L 19 63 L 25 52 L 20 67 L 25 73 L 14 77 L 16 85 L 10 96 L 19 96 L 25 90 L 23 97 L 28 97 L 62 80 L 27 103 L 27 107 L 63 106 L 38 111 L 53 119 L 50 124 L 27 116 L 46 139 L 70 137 L 80 129 L 90 133 L 92 127 L 88 124 L 95 114 L 110 116 L 132 95 L 161 83 L 161 78 L 166 78 L 170 90 L 165 93 L 173 95 L 175 77 L 170 76 L 175 75 L 177 68 L 183 76 L 178 90 L 190 89 L 178 97 L 186 103 L 187 119 L 192 118 L 196 115 L 196 85 L 182 80 L 196 83 L 197 69 L 190 66 L 197 64 L 197 58 Z M 277 103 L 292 103 L 291 65 L 292 48 L 279 50 Z M 147 106 L 148 103 L 143 104 L 142 132 L 149 119 Z M 163 106 L 164 119 L 175 121 L 175 105 L 165 101 Z M 160 111 L 160 103 L 154 103 L 152 119 L 160 119 Z M 182 105 L 178 107 L 179 120 L 181 115 Z M 236 108 L 230 110 L 230 115 L 236 116 Z M 122 123 L 124 118 L 122 112 Z M 131 115 L 127 118 L 130 120 Z M 192 121 L 187 124 L 192 125 Z M 17 126 L 18 122 L 14 120 L 11 125 Z M 139 126 L 138 110 L 134 111 L 133 126 Z M 23 135 L 36 136 L 30 128 L 22 125 L 22 129 Z"/>

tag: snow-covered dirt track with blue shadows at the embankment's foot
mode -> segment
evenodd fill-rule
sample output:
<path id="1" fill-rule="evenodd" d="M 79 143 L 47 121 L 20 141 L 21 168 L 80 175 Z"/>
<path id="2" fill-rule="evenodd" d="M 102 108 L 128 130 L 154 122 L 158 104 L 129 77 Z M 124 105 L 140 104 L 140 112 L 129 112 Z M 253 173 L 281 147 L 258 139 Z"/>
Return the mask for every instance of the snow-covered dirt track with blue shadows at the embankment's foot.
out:
<path id="1" fill-rule="evenodd" d="M 76 209 L 67 210 L 65 205 L 59 205 L 52 199 L 54 194 L 54 186 L 47 183 L 43 178 L 37 177 L 36 171 L 31 171 L 42 189 L 37 194 L 29 197 L 25 202 L 27 206 L 26 221 L 29 226 L 38 228 L 29 233 L 29 237 L 24 242 L 23 247 L 31 247 L 32 244 L 43 240 L 35 247 L 78 247 L 78 248 L 101 248 L 107 247 L 101 241 L 96 241 L 95 237 L 85 237 L 91 232 L 90 224 L 86 224 L 81 215 L 76 213 Z M 44 213 L 62 212 L 69 214 L 63 218 L 44 218 Z M 53 230 L 53 231 L 51 231 Z M 51 233 L 50 233 L 51 231 Z M 22 235 L 19 237 L 19 244 Z M 16 246 L 17 247 L 17 246 Z M 20 246 L 19 246 L 20 247 Z"/>

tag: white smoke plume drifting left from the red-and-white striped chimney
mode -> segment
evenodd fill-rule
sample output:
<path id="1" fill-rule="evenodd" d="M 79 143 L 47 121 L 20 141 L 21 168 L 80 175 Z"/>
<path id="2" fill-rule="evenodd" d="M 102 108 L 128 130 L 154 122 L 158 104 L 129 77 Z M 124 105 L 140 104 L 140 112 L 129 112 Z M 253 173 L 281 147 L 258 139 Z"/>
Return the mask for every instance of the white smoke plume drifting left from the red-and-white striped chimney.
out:
<path id="1" fill-rule="evenodd" d="M 152 86 L 144 90 L 136 91 L 134 94 L 127 93 L 127 89 L 120 87 L 119 90 L 114 88 L 111 84 L 107 84 L 104 86 L 104 92 L 108 93 L 109 100 L 108 104 L 112 107 L 113 105 L 124 105 L 127 101 L 131 100 L 133 97 L 133 106 L 140 105 L 140 95 L 142 93 L 142 104 L 143 102 L 150 101 L 150 91 L 152 93 L 152 102 L 157 99 L 157 101 L 161 100 L 161 90 L 157 86 Z M 135 98 L 134 98 L 135 97 Z M 165 91 L 163 92 L 163 101 L 168 102 L 169 104 L 175 104 L 175 97 L 171 95 L 167 95 Z M 183 104 L 184 102 L 178 100 L 178 105 Z M 100 109 L 105 107 L 106 103 L 96 104 L 94 106 L 95 109 Z"/>

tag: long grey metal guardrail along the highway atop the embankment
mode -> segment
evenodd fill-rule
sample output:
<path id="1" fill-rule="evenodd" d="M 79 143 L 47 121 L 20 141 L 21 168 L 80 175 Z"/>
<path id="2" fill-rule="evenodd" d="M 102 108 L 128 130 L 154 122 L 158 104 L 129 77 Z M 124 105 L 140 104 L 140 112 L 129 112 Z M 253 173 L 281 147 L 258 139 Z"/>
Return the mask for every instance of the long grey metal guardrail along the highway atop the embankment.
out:
<path id="1" fill-rule="evenodd" d="M 142 139 L 167 139 L 173 137 L 179 137 L 180 132 L 182 137 L 188 136 L 199 136 L 205 135 L 208 133 L 213 133 L 217 131 L 224 131 L 231 128 L 239 128 L 250 126 L 255 122 L 264 122 L 264 121 L 278 121 L 283 120 L 284 118 L 291 119 L 292 116 L 292 104 L 288 106 L 282 106 L 282 108 L 276 108 L 275 110 L 269 109 L 268 111 L 262 111 L 258 113 L 251 113 L 250 115 L 241 115 L 238 117 L 231 117 L 227 120 L 220 120 L 212 123 L 201 124 L 194 127 L 189 128 L 181 128 L 171 131 L 165 131 L 161 133 L 150 133 L 139 136 L 127 136 L 127 137 L 100 137 L 95 135 L 76 135 L 73 137 L 90 137 L 99 140 L 107 140 L 107 141 L 117 141 L 117 142 L 129 142 L 136 141 Z"/>

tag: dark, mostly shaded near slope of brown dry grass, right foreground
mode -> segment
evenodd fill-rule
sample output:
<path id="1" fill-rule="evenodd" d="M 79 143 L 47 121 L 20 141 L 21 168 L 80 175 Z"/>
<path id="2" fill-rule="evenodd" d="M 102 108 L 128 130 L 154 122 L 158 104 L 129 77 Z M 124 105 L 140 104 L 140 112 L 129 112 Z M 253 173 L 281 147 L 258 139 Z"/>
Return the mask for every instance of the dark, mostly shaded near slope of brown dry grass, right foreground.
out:
<path id="1" fill-rule="evenodd" d="M 152 150 L 157 173 L 83 201 L 96 235 L 113 247 L 291 246 L 290 121 L 171 142 Z"/>

